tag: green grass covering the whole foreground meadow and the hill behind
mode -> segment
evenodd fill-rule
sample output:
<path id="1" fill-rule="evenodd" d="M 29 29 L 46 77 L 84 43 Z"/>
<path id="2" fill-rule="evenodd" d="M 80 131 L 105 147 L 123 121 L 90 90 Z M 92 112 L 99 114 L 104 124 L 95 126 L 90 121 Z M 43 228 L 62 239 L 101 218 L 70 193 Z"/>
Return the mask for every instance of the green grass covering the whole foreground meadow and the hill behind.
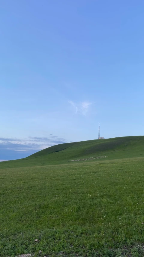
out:
<path id="1" fill-rule="evenodd" d="M 0 163 L 1 257 L 144 256 L 144 137 L 106 140 Z M 57 164 L 52 154 L 62 151 Z M 66 161 L 104 153 L 107 159 Z"/>

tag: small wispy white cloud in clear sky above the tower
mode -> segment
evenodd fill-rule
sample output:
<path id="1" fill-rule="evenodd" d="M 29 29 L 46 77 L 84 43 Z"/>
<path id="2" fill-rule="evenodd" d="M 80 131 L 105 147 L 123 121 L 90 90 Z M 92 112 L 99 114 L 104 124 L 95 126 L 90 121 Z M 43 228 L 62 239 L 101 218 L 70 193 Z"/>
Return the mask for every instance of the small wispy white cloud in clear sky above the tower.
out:
<path id="1" fill-rule="evenodd" d="M 92 104 L 90 102 L 80 102 L 80 103 L 74 103 L 73 101 L 69 101 L 70 105 L 73 106 L 75 109 L 75 113 L 80 113 L 83 115 L 86 115 L 88 112 L 89 106 Z"/>

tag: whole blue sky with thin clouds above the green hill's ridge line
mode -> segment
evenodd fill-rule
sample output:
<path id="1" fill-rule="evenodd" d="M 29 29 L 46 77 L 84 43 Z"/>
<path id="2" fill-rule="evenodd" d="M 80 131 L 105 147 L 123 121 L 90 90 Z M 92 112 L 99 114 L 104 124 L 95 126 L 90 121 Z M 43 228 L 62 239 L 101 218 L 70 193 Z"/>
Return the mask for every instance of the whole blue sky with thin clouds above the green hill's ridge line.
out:
<path id="1" fill-rule="evenodd" d="M 1 0 L 0 160 L 143 135 L 144 1 Z"/>

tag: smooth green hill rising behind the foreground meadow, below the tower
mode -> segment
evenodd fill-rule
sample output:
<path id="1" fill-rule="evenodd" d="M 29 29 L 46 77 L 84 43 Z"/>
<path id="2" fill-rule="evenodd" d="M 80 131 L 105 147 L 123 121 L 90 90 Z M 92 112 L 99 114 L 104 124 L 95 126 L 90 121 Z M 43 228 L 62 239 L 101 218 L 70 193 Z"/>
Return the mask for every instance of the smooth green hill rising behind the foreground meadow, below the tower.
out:
<path id="1" fill-rule="evenodd" d="M 0 168 L 67 164 L 69 160 L 102 155 L 107 155 L 107 160 L 143 157 L 144 136 L 127 136 L 60 144 L 41 150 L 23 159 L 1 162 Z"/>

